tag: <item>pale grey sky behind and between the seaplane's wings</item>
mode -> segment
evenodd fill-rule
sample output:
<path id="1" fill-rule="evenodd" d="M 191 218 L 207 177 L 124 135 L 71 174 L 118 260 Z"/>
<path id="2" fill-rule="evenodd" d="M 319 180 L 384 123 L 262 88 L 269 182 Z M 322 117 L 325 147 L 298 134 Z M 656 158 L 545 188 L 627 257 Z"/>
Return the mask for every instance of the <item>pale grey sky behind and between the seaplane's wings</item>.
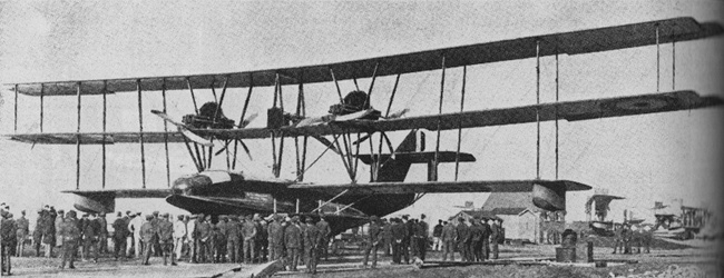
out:
<path id="1" fill-rule="evenodd" d="M 323 62 L 515 39 L 534 34 L 635 23 L 674 17 L 724 22 L 721 1 L 3 1 L 0 2 L 0 82 L 59 81 L 192 73 L 234 72 Z M 722 92 L 723 38 L 676 44 L 676 88 L 701 95 Z M 672 46 L 661 47 L 661 88 L 672 90 Z M 561 56 L 560 100 L 629 96 L 656 91 L 656 48 Z M 513 107 L 536 101 L 536 60 L 470 67 L 466 110 Z M 461 69 L 446 72 L 443 111 L 459 109 Z M 363 88 L 368 79 L 360 80 Z M 385 107 L 394 78 L 375 81 L 372 105 Z M 342 90 L 353 89 L 351 81 Z M 440 71 L 401 78 L 393 110 L 430 115 L 438 109 Z M 285 103 L 296 88 L 285 87 Z M 252 111 L 265 115 L 272 88 L 255 89 Z M 323 115 L 336 98 L 333 85 L 305 87 L 307 113 Z M 198 90 L 202 100 L 209 91 Z M 229 90 L 227 116 L 238 119 L 246 89 Z M 555 100 L 555 60 L 541 59 L 541 99 Z M 2 91 L 0 131 L 13 132 L 13 93 Z M 20 96 L 18 132 L 39 131 L 39 98 Z M 100 131 L 100 97 L 82 100 L 82 131 Z M 144 93 L 144 130 L 163 130 L 150 109 L 160 109 L 159 92 Z M 48 97 L 43 131 L 76 130 L 75 97 Z M 108 97 L 109 131 L 138 130 L 135 93 Z M 180 119 L 193 106 L 187 91 L 169 92 L 169 115 Z M 288 108 L 287 108 L 288 110 Z M 561 122 L 559 178 L 608 189 L 626 197 L 623 209 L 650 212 L 655 200 L 684 199 L 685 205 L 713 206 L 721 196 L 722 108 L 662 115 Z M 260 117 L 253 127 L 265 125 Z M 555 175 L 551 122 L 541 125 L 541 178 Z M 398 141 L 401 135 L 393 135 Z M 433 149 L 433 132 L 428 132 Z M 441 149 L 454 150 L 457 131 L 442 133 Z M 239 158 L 242 169 L 271 176 L 271 143 L 250 141 L 254 161 Z M 311 143 L 310 158 L 323 150 Z M 286 146 L 293 146 L 287 140 Z M 172 146 L 172 177 L 194 167 L 183 145 Z M 292 149 L 287 149 L 292 150 Z M 478 161 L 461 166 L 462 180 L 529 179 L 536 175 L 536 126 L 516 125 L 463 131 L 462 150 Z M 69 208 L 75 189 L 75 146 L 30 146 L 2 141 L 2 199 L 13 208 L 35 210 L 45 203 Z M 294 178 L 293 151 L 285 152 L 283 178 Z M 148 187 L 166 187 L 163 145 L 146 147 Z M 100 147 L 81 150 L 81 189 L 100 189 Z M 107 188 L 140 187 L 137 145 L 108 148 Z M 225 169 L 222 157 L 215 167 Z M 360 181 L 368 179 L 363 168 Z M 454 167 L 441 167 L 452 180 Z M 408 180 L 424 180 L 424 166 Z M 346 181 L 339 157 L 325 156 L 307 181 Z M 569 220 L 585 219 L 583 203 L 591 192 L 568 195 Z M 486 193 L 430 195 L 402 212 L 425 212 L 432 219 L 457 212 L 466 200 L 481 206 Z M 170 210 L 163 200 L 121 200 L 118 210 Z M 648 219 L 652 220 L 652 219 Z"/>

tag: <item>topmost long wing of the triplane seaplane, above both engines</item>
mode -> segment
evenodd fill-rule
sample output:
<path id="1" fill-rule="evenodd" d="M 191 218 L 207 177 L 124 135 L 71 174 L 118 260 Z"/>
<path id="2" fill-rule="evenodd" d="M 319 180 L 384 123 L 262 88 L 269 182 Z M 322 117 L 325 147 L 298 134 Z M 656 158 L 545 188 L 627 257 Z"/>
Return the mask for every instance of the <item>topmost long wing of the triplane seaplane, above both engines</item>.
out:
<path id="1" fill-rule="evenodd" d="M 45 96 L 78 92 L 100 95 L 104 87 L 110 92 L 136 91 L 138 88 L 157 91 L 164 86 L 168 90 L 180 90 L 188 88 L 187 82 L 197 89 L 208 89 L 225 81 L 228 88 L 239 88 L 273 86 L 276 75 L 280 76 L 282 85 L 327 82 L 333 80 L 330 69 L 334 70 L 336 80 L 344 80 L 372 77 L 375 67 L 378 77 L 440 69 L 443 56 L 448 68 L 526 59 L 536 57 L 537 42 L 540 44 L 540 56 L 579 54 L 650 46 L 657 42 L 657 30 L 659 43 L 695 40 L 723 31 L 718 23 L 698 23 L 693 18 L 674 18 L 307 67 L 182 77 L 20 83 L 17 88 L 18 92 L 30 96 L 40 96 L 41 91 Z"/>

